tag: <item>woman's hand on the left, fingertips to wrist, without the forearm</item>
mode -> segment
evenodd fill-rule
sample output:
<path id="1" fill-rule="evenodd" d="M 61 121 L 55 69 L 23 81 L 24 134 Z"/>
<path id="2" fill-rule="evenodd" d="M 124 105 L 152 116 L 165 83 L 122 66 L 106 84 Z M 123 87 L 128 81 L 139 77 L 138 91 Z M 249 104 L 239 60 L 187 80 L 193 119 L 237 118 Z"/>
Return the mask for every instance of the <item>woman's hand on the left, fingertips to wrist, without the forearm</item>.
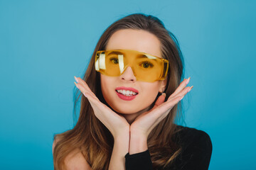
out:
<path id="1" fill-rule="evenodd" d="M 129 123 L 127 123 L 127 120 L 103 104 L 80 77 L 75 77 L 75 80 L 78 82 L 75 85 L 90 102 L 95 116 L 110 130 L 114 139 L 124 134 L 129 135 Z"/>

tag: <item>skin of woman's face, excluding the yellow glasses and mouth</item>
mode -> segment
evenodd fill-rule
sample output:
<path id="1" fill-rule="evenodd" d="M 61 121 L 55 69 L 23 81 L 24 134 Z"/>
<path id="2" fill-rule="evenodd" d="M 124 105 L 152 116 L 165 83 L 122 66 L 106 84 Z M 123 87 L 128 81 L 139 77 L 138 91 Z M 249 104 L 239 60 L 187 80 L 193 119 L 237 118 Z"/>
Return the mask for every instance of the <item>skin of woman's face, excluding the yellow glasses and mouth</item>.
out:
<path id="1" fill-rule="evenodd" d="M 124 29 L 117 30 L 107 43 L 106 50 L 137 50 L 150 55 L 161 57 L 161 42 L 155 35 L 145 30 Z M 137 81 L 131 67 L 127 67 L 119 77 L 109 77 L 100 74 L 102 94 L 105 101 L 114 111 L 122 114 L 141 113 L 147 110 L 154 102 L 159 91 L 164 89 L 164 81 L 145 82 Z M 128 89 L 127 89 L 128 88 Z M 117 89 L 137 90 L 137 95 L 132 100 L 117 93 Z M 131 91 L 131 89 L 130 89 Z"/>

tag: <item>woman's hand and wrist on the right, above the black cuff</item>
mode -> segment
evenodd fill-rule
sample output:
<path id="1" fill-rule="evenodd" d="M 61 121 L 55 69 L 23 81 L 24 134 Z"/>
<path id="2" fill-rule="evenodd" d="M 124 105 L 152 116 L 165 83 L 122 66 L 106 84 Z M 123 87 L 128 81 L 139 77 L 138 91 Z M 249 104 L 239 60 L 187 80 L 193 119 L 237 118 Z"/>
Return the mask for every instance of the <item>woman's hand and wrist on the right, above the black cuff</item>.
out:
<path id="1" fill-rule="evenodd" d="M 142 113 L 134 120 L 130 127 L 130 154 L 143 152 L 147 149 L 146 141 L 151 130 L 153 130 L 161 120 L 166 118 L 169 111 L 171 111 L 178 101 L 181 101 L 183 96 L 193 88 L 193 86 L 186 87 L 189 80 L 190 78 L 184 79 L 166 102 L 164 102 L 166 98 L 165 94 L 159 96 L 150 111 Z"/>

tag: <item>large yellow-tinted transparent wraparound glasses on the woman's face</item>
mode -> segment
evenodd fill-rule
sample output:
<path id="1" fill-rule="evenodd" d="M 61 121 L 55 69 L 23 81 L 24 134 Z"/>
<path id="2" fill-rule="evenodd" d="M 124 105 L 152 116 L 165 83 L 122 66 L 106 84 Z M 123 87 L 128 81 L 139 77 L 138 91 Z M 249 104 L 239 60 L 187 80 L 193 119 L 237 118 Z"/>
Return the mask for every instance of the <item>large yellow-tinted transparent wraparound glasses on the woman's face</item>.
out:
<path id="1" fill-rule="evenodd" d="M 137 81 L 154 82 L 166 79 L 169 62 L 160 57 L 135 50 L 102 50 L 95 55 L 97 72 L 110 77 L 120 76 L 127 67 Z"/>

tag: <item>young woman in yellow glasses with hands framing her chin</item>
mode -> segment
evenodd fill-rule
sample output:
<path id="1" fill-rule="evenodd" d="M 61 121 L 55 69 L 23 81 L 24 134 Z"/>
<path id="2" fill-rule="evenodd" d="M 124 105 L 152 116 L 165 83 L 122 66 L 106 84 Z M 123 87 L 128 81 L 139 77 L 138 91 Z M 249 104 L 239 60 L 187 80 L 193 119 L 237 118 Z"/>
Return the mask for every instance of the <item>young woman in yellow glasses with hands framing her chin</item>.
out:
<path id="1" fill-rule="evenodd" d="M 181 79 L 178 42 L 158 18 L 114 22 L 75 77 L 80 116 L 54 137 L 54 169 L 208 169 L 210 137 L 174 123 L 193 88 Z"/>

